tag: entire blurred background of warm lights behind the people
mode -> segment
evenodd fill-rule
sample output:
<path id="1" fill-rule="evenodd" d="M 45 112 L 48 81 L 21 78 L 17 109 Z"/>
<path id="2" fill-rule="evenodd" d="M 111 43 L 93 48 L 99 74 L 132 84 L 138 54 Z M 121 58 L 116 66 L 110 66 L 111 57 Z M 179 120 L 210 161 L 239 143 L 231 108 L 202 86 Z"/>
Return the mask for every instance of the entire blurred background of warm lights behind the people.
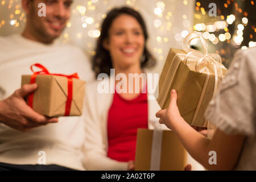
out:
<path id="1" fill-rule="evenodd" d="M 237 49 L 256 46 L 255 0 L 74 0 L 72 18 L 59 41 L 80 46 L 90 57 L 100 24 L 113 7 L 130 6 L 146 21 L 150 39 L 148 47 L 158 60 L 152 72 L 162 70 L 171 47 L 181 48 L 191 31 L 203 33 L 208 53 L 218 53 L 228 68 Z M 0 36 L 19 33 L 26 15 L 21 0 L 0 0 Z M 210 17 L 209 4 L 216 3 L 217 16 Z M 199 41 L 193 48 L 201 49 Z"/>

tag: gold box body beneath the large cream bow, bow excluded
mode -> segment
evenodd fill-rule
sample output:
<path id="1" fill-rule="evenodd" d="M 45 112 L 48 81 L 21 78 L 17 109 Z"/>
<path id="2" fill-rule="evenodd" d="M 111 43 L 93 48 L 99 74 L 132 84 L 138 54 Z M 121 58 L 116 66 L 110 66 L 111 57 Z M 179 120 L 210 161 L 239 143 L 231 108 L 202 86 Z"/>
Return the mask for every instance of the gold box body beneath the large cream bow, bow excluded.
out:
<path id="1" fill-rule="evenodd" d="M 206 71 L 198 72 L 193 68 L 196 63 L 191 67 L 184 63 L 186 54 L 187 52 L 180 49 L 170 49 L 159 78 L 159 96 L 156 100 L 162 109 L 166 109 L 170 103 L 171 89 L 175 89 L 181 117 L 191 126 L 207 127 L 204 111 L 213 97 L 214 89 L 217 89 L 215 84 L 218 85 L 222 80 L 226 68 L 218 63 L 218 72 L 221 72 L 222 76 L 219 75 L 218 81 L 215 82 L 216 75 L 212 65 L 208 69 L 209 74 Z"/>

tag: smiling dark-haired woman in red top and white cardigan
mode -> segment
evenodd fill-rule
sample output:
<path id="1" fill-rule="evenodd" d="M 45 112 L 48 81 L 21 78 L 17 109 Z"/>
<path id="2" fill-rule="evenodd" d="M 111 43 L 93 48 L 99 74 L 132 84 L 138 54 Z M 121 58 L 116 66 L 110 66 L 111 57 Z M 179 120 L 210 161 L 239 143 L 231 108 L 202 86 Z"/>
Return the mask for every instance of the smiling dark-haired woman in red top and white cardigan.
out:
<path id="1" fill-rule="evenodd" d="M 133 73 L 139 78 L 143 68 L 155 64 L 146 48 L 147 38 L 144 20 L 137 11 L 128 7 L 110 11 L 102 23 L 93 57 L 96 77 L 99 73 L 110 75 L 110 69 L 114 68 L 116 75 L 122 73 L 128 78 Z M 118 83 L 115 80 L 113 86 L 117 88 Z M 113 93 L 100 94 L 98 84 L 99 81 L 86 88 L 85 167 L 88 170 L 134 169 L 137 129 L 154 129 L 155 125 L 167 129 L 155 117 L 159 107 L 155 100 L 148 100 L 143 92 L 147 84 L 142 80 L 136 85 L 127 81 L 119 87 L 127 93 L 112 88 Z M 128 93 L 129 86 L 133 86 L 131 93 Z M 136 89 L 139 92 L 134 92 Z"/>

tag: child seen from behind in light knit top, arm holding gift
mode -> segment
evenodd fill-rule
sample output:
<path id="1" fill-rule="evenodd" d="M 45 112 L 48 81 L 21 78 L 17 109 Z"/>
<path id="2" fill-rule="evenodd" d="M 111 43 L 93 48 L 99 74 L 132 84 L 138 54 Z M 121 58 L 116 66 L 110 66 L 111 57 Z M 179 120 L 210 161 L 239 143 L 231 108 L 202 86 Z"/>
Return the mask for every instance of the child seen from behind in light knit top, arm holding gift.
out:
<path id="1" fill-rule="evenodd" d="M 194 159 L 209 170 L 256 170 L 256 48 L 236 53 L 205 111 L 205 118 L 217 127 L 212 140 L 184 121 L 176 100 L 172 90 L 168 109 L 159 110 L 156 117 L 175 131 Z"/>

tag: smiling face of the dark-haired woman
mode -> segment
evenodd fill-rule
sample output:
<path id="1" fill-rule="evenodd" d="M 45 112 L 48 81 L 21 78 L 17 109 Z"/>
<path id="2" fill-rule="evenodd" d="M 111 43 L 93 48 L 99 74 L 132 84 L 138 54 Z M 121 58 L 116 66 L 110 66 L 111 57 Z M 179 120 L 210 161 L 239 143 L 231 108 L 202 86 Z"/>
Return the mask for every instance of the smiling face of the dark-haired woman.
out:
<path id="1" fill-rule="evenodd" d="M 114 67 L 126 68 L 140 64 L 144 43 L 143 30 L 138 20 L 122 14 L 113 20 L 104 48 L 109 50 Z"/>

